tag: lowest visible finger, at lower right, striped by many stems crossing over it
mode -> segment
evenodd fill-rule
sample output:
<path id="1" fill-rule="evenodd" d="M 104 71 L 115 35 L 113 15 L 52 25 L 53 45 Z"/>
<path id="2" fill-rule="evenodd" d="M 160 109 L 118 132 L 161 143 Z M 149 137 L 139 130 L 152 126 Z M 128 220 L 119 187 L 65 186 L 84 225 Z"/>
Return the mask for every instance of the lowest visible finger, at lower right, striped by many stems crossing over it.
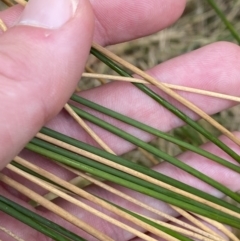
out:
<path id="1" fill-rule="evenodd" d="M 235 134 L 238 137 L 240 137 L 240 133 L 235 133 Z M 230 143 L 230 141 L 228 141 L 225 137 L 221 137 L 221 139 L 223 142 L 225 142 L 227 145 L 229 145 L 230 148 L 234 149 L 237 153 L 240 153 L 240 149 L 236 144 Z M 211 151 L 212 153 L 214 153 L 218 156 L 221 156 L 223 158 L 228 158 L 225 156 L 225 154 L 221 150 L 219 150 L 217 147 L 215 147 L 212 143 L 205 144 L 203 146 L 203 149 Z M 177 158 L 180 159 L 181 161 L 183 161 L 184 163 L 187 163 L 190 166 L 198 169 L 200 172 L 203 172 L 205 175 L 219 181 L 221 184 L 227 186 L 228 188 L 230 188 L 233 191 L 238 191 L 240 188 L 240 184 L 238 182 L 232 181 L 232 180 L 239 180 L 240 174 L 235 173 L 233 170 L 229 170 L 217 163 L 214 163 L 213 161 L 208 160 L 207 158 L 200 157 L 199 155 L 193 154 L 191 152 L 186 152 L 186 153 L 178 156 Z M 234 162 L 231 159 L 229 159 L 229 161 Z M 173 167 L 171 164 L 168 164 L 166 162 L 161 163 L 158 166 L 156 166 L 155 170 L 163 173 L 164 175 L 177 179 L 181 182 L 187 183 L 190 186 L 193 186 L 200 190 L 208 192 L 211 195 L 214 195 L 218 198 L 222 198 L 224 196 L 221 192 L 217 191 L 216 189 L 210 187 L 209 185 L 203 183 L 202 181 L 199 181 L 198 179 Z M 20 182 L 22 184 L 24 184 L 25 186 L 29 186 L 29 183 L 24 180 L 20 180 Z M 161 210 L 161 211 L 168 213 L 175 217 L 178 216 L 178 214 L 175 211 L 173 211 L 168 205 L 166 205 L 165 203 L 163 203 L 161 201 L 158 201 L 154 198 L 147 197 L 140 193 L 136 193 L 129 189 L 119 187 L 118 185 L 115 185 L 115 184 L 113 184 L 111 186 L 118 189 L 122 193 L 126 193 L 129 196 L 132 196 L 135 199 L 140 200 L 142 203 L 145 203 L 147 205 L 150 205 L 150 206 L 156 208 L 157 210 Z M 32 188 L 31 185 L 30 185 L 30 187 Z M 36 187 L 34 188 L 34 190 L 36 190 Z M 145 216 L 163 220 L 159 216 L 151 213 L 150 211 L 147 211 L 141 207 L 138 207 L 132 203 L 129 203 L 113 194 L 108 193 L 107 191 L 105 191 L 95 185 L 89 186 L 85 190 L 87 190 L 88 192 L 90 192 L 96 196 L 99 196 L 103 199 L 107 199 L 108 201 L 113 202 L 119 206 L 127 208 L 128 210 L 132 210 L 133 212 L 138 212 Z M 80 200 L 82 202 L 86 202 L 87 204 L 90 204 L 90 202 L 88 202 L 84 199 L 80 198 Z M 56 203 L 57 203 L 57 205 L 63 207 L 65 210 L 73 213 L 74 215 L 77 215 L 79 218 L 81 218 L 81 220 L 84 220 L 87 223 L 91 223 L 91 225 L 93 227 L 95 227 L 99 230 L 102 230 L 104 233 L 111 236 L 115 240 L 123 240 L 124 241 L 124 240 L 129 240 L 129 239 L 133 238 L 132 234 L 125 232 L 114 225 L 110 225 L 108 222 L 103 221 L 101 218 L 92 216 L 88 212 L 86 212 L 82 209 L 79 209 L 75 205 L 69 204 L 68 202 L 66 202 L 62 199 L 57 199 Z M 116 217 L 112 213 L 104 211 L 98 205 L 95 205 L 95 204 L 94 205 L 90 204 L 90 205 L 94 206 L 95 208 L 99 209 L 100 211 L 103 211 L 104 213 L 107 213 L 108 215 L 110 215 L 112 217 Z M 57 216 L 52 215 L 50 212 L 46 211 L 44 208 L 38 208 L 38 211 L 40 211 L 41 214 L 46 215 L 47 217 L 51 217 L 51 219 L 53 219 L 54 221 L 59 222 L 59 219 L 57 218 Z M 117 217 L 117 219 L 123 221 L 119 217 Z M 85 238 L 89 238 L 88 236 L 85 236 L 85 234 L 83 232 L 79 232 L 79 230 L 72 227 L 70 224 L 65 223 L 63 220 L 60 220 L 60 224 L 66 228 L 71 229 L 72 231 L 74 231 L 76 233 L 79 233 L 80 235 L 83 235 Z M 138 228 L 138 229 L 141 231 L 144 231 L 141 228 Z"/>

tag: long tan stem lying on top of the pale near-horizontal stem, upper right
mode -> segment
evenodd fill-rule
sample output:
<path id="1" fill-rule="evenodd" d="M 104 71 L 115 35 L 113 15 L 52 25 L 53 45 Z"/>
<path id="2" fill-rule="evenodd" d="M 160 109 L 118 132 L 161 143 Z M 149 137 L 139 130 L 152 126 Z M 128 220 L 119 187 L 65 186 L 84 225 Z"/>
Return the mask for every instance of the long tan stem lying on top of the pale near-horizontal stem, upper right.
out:
<path id="1" fill-rule="evenodd" d="M 217 121 L 215 121 L 211 116 L 206 114 L 203 110 L 201 110 L 199 107 L 195 106 L 193 103 L 188 101 L 187 99 L 183 98 L 167 86 L 165 86 L 163 83 L 160 81 L 154 79 L 152 76 L 149 74 L 145 73 L 144 71 L 138 69 L 134 65 L 128 63 L 127 61 L 123 60 L 122 58 L 118 57 L 114 53 L 110 52 L 109 50 L 103 48 L 102 46 L 92 43 L 92 47 L 106 55 L 107 57 L 111 58 L 112 60 L 116 61 L 117 63 L 123 65 L 124 67 L 128 68 L 129 70 L 133 71 L 135 74 L 141 76 L 143 79 L 147 80 L 149 83 L 157 86 L 159 89 L 161 89 L 163 92 L 171 96 L 172 98 L 176 99 L 183 105 L 187 106 L 189 109 L 197 113 L 200 117 L 205 119 L 207 122 L 212 124 L 215 128 L 217 128 L 220 132 L 222 132 L 224 135 L 226 135 L 229 139 L 234 141 L 236 144 L 240 145 L 240 140 L 234 136 L 233 133 L 231 133 L 229 130 L 227 130 L 225 127 L 220 125 Z"/>

